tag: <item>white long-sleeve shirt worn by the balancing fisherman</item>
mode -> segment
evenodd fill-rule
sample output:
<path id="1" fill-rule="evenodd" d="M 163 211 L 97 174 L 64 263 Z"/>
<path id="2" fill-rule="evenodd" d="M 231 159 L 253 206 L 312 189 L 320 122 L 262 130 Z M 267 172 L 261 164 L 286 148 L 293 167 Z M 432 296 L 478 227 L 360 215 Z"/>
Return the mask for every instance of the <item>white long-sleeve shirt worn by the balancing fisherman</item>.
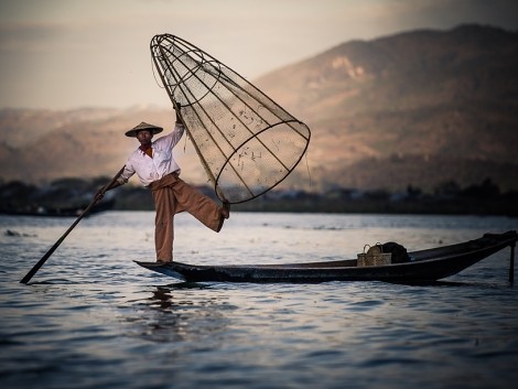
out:
<path id="1" fill-rule="evenodd" d="M 176 122 L 171 133 L 152 142 L 153 158 L 147 155 L 140 148 L 133 151 L 126 162 L 125 171 L 118 179 L 119 183 L 127 183 L 136 173 L 143 186 L 148 186 L 169 173 L 177 172 L 180 174 L 180 166 L 173 156 L 173 148 L 182 138 L 184 130 L 184 126 Z"/>

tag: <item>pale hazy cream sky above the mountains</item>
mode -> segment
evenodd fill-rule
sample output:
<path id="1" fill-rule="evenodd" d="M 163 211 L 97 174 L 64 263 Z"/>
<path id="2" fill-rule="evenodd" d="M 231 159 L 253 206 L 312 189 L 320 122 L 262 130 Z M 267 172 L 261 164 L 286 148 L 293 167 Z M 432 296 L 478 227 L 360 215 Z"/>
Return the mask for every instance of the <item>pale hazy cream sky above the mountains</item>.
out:
<path id="1" fill-rule="evenodd" d="M 472 22 L 518 30 L 518 1 L 0 0 L 0 108 L 169 107 L 161 33 L 252 80 L 349 40 Z"/>

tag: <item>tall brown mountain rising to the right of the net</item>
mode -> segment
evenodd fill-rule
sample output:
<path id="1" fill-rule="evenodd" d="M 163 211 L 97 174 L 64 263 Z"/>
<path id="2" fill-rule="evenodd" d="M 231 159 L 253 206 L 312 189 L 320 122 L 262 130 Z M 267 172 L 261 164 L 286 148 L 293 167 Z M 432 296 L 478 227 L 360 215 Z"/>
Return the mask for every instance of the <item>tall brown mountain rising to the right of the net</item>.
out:
<path id="1" fill-rule="evenodd" d="M 316 179 L 517 188 L 517 68 L 516 32 L 463 25 L 348 42 L 257 85 L 310 125 Z"/>

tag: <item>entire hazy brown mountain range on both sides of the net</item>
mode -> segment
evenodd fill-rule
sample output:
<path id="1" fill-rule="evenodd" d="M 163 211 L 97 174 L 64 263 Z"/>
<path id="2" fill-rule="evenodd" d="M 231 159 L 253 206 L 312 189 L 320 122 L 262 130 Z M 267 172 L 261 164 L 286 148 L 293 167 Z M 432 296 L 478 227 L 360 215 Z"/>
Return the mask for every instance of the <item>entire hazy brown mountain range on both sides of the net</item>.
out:
<path id="1" fill-rule="evenodd" d="M 517 68 L 517 32 L 462 25 L 347 42 L 253 84 L 312 130 L 284 185 L 431 190 L 490 177 L 518 190 Z M 173 119 L 149 107 L 0 110 L 1 177 L 111 175 L 137 145 L 126 129 Z M 206 182 L 188 141 L 176 154 L 186 180 Z"/>

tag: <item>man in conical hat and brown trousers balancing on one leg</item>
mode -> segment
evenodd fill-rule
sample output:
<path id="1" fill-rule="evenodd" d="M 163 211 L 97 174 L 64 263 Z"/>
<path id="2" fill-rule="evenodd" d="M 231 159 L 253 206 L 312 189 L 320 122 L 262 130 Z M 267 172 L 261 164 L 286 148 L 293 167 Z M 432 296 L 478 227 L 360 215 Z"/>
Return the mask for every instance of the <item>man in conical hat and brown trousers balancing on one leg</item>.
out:
<path id="1" fill-rule="evenodd" d="M 123 185 L 137 173 L 141 184 L 149 187 L 153 195 L 155 207 L 154 244 L 158 262 L 173 260 L 174 215 L 188 212 L 206 227 L 216 233 L 228 219 L 230 207 L 224 203 L 218 206 L 213 199 L 196 191 L 193 186 L 180 179 L 180 166 L 174 160 L 173 148 L 184 133 L 184 125 L 176 105 L 176 123 L 168 136 L 151 141 L 154 134 L 162 132 L 163 128 L 141 122 L 126 132 L 127 137 L 137 138 L 140 147 L 128 158 L 126 168 L 118 180 L 105 191 Z M 102 197 L 100 188 L 96 198 Z"/>

